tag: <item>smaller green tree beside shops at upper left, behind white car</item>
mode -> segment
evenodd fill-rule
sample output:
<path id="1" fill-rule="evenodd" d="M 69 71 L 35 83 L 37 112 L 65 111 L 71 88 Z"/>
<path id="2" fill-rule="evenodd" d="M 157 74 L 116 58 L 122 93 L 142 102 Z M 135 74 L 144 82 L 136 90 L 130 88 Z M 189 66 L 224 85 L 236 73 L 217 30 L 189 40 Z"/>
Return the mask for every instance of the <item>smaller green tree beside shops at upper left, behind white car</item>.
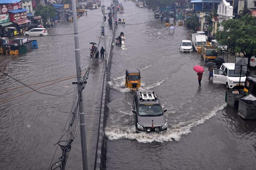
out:
<path id="1" fill-rule="evenodd" d="M 45 26 L 46 20 L 49 19 L 49 14 L 51 18 L 54 18 L 56 15 L 56 9 L 52 5 L 43 6 L 42 4 L 37 5 L 35 10 L 35 15 L 42 17 L 43 25 Z"/>

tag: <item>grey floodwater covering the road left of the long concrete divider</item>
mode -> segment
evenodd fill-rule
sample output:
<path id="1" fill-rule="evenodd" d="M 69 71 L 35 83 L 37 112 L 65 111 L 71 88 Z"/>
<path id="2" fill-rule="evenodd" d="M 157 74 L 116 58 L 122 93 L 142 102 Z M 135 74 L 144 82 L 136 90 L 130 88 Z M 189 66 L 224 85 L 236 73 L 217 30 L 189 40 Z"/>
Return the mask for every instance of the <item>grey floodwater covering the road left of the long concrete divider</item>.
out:
<path id="1" fill-rule="evenodd" d="M 110 1 L 106 1 L 106 5 L 109 4 Z M 99 41 L 101 23 L 101 8 L 88 10 L 87 16 L 78 19 L 78 31 L 85 31 L 79 33 L 82 69 L 90 61 L 89 42 Z M 1 55 L 1 90 L 76 75 L 73 23 L 58 23 L 47 30 L 49 35 L 71 35 L 34 37 L 31 39 L 38 40 L 38 49 L 24 55 Z M 109 42 L 109 29 L 105 33 Z M 103 38 L 101 46 L 104 46 Z M 99 58 L 99 61 L 94 64 L 83 90 L 89 169 L 93 169 L 95 161 L 105 69 L 104 59 Z M 0 103 L 0 169 L 48 169 L 56 148 L 53 145 L 60 139 L 71 110 L 74 81 L 58 82 Z M 0 101 L 50 83 L 0 92 Z M 60 156 L 61 149 L 58 148 L 53 162 L 59 161 Z M 82 169 L 79 128 L 66 169 Z"/>

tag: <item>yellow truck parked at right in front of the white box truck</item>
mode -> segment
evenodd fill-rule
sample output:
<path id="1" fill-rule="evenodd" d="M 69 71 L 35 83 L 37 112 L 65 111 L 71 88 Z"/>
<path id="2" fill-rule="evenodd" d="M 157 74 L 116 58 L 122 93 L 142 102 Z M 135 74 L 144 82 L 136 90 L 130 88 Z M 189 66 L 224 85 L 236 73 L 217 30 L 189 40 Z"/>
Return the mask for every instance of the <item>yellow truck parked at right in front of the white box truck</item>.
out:
<path id="1" fill-rule="evenodd" d="M 204 59 L 204 61 L 215 61 L 215 59 L 218 57 L 217 46 L 202 43 L 201 57 Z"/>

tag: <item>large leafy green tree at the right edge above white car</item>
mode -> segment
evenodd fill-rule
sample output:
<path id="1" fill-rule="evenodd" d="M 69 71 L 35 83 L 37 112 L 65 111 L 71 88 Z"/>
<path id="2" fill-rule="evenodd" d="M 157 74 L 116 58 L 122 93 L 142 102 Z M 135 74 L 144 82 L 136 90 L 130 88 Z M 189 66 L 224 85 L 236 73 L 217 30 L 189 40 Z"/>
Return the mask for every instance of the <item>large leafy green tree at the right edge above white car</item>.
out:
<path id="1" fill-rule="evenodd" d="M 230 54 L 243 53 L 248 59 L 256 54 L 255 17 L 244 15 L 239 19 L 223 21 L 219 25 L 223 30 L 217 30 L 216 39 L 220 44 L 227 45 Z"/>

